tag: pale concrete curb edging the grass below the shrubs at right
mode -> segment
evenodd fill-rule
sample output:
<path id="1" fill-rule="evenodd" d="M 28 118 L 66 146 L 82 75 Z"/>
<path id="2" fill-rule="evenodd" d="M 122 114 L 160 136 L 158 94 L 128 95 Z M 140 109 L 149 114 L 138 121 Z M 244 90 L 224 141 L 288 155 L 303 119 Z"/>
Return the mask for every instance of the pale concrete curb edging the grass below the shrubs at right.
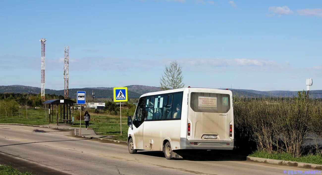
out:
<path id="1" fill-rule="evenodd" d="M 271 164 L 277 164 L 277 165 L 286 165 L 286 166 L 294 166 L 294 167 L 322 170 L 322 165 L 313 164 L 313 163 L 282 161 L 282 160 L 265 159 L 265 158 L 259 158 L 259 157 L 251 157 L 251 156 L 247 156 L 247 160 L 254 161 L 254 162 L 263 162 L 263 163 L 271 163 Z"/>

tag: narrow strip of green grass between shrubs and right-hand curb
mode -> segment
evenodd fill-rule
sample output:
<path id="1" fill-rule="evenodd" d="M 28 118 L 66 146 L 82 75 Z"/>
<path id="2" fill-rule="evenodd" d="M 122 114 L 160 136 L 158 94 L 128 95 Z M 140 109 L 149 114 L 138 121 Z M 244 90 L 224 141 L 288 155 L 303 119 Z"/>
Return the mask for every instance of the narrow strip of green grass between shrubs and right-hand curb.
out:
<path id="1" fill-rule="evenodd" d="M 283 160 L 283 161 L 314 163 L 314 164 L 322 165 L 322 155 L 321 154 L 308 154 L 308 155 L 302 155 L 299 158 L 295 158 L 289 153 L 272 153 L 271 154 L 271 153 L 267 153 L 265 151 L 255 151 L 254 153 L 250 154 L 249 156 L 266 158 L 266 159 Z"/>

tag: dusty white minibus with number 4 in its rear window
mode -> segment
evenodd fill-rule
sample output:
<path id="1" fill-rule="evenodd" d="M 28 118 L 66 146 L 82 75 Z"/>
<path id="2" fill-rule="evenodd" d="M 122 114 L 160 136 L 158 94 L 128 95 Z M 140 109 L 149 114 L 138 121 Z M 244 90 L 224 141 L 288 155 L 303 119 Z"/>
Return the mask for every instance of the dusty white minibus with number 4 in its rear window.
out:
<path id="1" fill-rule="evenodd" d="M 232 92 L 181 88 L 143 94 L 133 118 L 128 116 L 128 151 L 163 151 L 182 158 L 190 149 L 232 150 Z"/>

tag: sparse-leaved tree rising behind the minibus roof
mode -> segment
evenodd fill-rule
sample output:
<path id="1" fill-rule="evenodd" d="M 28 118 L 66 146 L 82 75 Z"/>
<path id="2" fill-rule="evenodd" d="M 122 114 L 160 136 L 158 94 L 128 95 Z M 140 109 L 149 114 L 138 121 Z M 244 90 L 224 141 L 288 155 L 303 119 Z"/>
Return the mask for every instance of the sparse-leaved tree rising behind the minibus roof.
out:
<path id="1" fill-rule="evenodd" d="M 172 61 L 170 66 L 165 66 L 166 69 L 163 71 L 163 75 L 160 78 L 160 87 L 161 90 L 169 90 L 169 89 L 178 89 L 183 88 L 185 86 L 182 83 L 183 75 L 180 65 L 177 61 Z"/>

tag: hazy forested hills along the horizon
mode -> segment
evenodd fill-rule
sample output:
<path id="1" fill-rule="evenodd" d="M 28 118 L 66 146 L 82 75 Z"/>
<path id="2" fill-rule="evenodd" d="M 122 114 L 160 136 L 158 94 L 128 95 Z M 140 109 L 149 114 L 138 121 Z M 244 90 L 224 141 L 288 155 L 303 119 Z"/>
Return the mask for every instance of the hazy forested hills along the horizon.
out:
<path id="1" fill-rule="evenodd" d="M 148 92 L 161 91 L 159 87 L 154 86 L 144 86 L 144 85 L 129 85 L 128 94 L 129 98 L 139 98 L 142 94 Z M 230 89 L 234 95 L 244 96 L 244 97 L 294 97 L 297 95 L 298 91 L 256 91 L 248 89 Z M 14 93 L 40 93 L 40 88 L 24 85 L 10 85 L 10 86 L 0 86 L 1 92 L 14 92 Z M 76 98 L 77 91 L 86 91 L 87 94 L 92 94 L 95 92 L 96 98 L 113 98 L 113 88 L 112 87 L 93 87 L 93 88 L 76 88 L 69 89 L 69 96 L 71 98 Z M 45 89 L 46 94 L 56 94 L 64 95 L 64 90 L 52 90 Z M 310 91 L 310 98 L 322 98 L 322 90 Z"/>

